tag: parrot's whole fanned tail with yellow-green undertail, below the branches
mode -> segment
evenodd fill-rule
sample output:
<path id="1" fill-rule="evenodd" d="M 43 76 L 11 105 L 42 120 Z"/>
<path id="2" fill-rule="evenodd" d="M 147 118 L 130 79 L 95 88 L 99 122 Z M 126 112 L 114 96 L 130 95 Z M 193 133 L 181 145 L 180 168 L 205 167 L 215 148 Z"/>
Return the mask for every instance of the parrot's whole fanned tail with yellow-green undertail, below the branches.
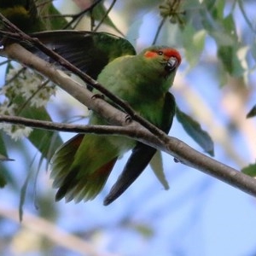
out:
<path id="1" fill-rule="evenodd" d="M 119 157 L 119 148 L 111 141 L 109 137 L 79 134 L 57 149 L 50 173 L 53 187 L 58 189 L 56 201 L 64 197 L 66 201 L 88 201 L 99 194 Z"/>

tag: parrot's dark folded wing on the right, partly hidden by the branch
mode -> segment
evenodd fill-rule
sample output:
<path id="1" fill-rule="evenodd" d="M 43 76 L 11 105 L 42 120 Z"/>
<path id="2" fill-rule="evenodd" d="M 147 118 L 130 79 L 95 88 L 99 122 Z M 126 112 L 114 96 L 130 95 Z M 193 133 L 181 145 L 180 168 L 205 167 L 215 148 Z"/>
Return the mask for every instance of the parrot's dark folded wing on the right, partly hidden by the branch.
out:
<path id="1" fill-rule="evenodd" d="M 172 127 L 172 120 L 175 114 L 175 98 L 170 92 L 166 93 L 166 99 L 163 109 L 163 121 L 160 129 L 166 133 Z M 152 148 L 146 144 L 138 142 L 133 148 L 130 158 L 128 159 L 123 172 L 120 174 L 116 183 L 113 184 L 112 189 L 104 200 L 104 205 L 107 206 L 115 199 L 122 195 L 128 189 L 137 177 L 148 166 L 148 163 L 153 158 L 157 149 Z"/>

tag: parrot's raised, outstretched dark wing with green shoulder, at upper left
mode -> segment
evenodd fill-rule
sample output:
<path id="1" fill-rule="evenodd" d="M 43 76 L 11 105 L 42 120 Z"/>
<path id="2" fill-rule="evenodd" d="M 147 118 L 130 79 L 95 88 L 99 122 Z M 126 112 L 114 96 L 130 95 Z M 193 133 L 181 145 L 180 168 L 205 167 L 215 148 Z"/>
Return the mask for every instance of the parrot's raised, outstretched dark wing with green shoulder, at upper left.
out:
<path id="1" fill-rule="evenodd" d="M 125 38 L 107 32 L 50 31 L 32 33 L 50 49 L 64 57 L 84 73 L 96 79 L 102 69 L 114 59 L 123 55 L 136 55 L 134 47 Z M 26 49 L 44 60 L 55 62 L 38 49 L 23 44 Z"/>

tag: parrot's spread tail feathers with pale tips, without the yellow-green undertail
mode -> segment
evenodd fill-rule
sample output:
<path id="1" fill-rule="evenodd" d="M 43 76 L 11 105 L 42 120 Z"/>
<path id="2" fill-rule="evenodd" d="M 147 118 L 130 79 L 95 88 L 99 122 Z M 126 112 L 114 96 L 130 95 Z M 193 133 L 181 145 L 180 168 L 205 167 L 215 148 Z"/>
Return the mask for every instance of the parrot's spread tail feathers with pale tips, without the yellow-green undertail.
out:
<path id="1" fill-rule="evenodd" d="M 85 138 L 90 138 L 86 136 Z M 75 155 L 84 140 L 84 135 L 77 135 L 59 148 L 52 159 L 53 187 L 58 189 L 55 201 L 65 197 L 66 201 L 92 200 L 102 190 L 118 157 L 102 163 L 96 170 L 90 172 L 90 157 L 84 155 L 84 163 L 88 165 L 73 165 Z"/>

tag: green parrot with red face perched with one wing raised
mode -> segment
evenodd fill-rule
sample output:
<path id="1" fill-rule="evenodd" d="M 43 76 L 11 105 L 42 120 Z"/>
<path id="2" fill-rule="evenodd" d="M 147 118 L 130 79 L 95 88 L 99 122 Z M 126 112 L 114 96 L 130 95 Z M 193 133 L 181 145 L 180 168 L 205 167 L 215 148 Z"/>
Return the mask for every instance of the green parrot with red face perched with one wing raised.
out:
<path id="1" fill-rule="evenodd" d="M 137 113 L 162 131 L 170 130 L 175 99 L 168 90 L 181 62 L 176 49 L 152 46 L 136 55 L 127 40 L 106 32 L 54 31 L 33 33 L 32 36 L 129 102 Z M 37 49 L 30 50 L 54 62 Z M 90 125 L 109 124 L 100 114 L 92 112 Z M 156 149 L 120 136 L 79 134 L 68 140 L 51 160 L 53 186 L 58 189 L 56 201 L 64 197 L 66 201 L 77 202 L 94 199 L 115 162 L 130 149 L 131 156 L 104 205 L 118 198 L 137 179 Z"/>

